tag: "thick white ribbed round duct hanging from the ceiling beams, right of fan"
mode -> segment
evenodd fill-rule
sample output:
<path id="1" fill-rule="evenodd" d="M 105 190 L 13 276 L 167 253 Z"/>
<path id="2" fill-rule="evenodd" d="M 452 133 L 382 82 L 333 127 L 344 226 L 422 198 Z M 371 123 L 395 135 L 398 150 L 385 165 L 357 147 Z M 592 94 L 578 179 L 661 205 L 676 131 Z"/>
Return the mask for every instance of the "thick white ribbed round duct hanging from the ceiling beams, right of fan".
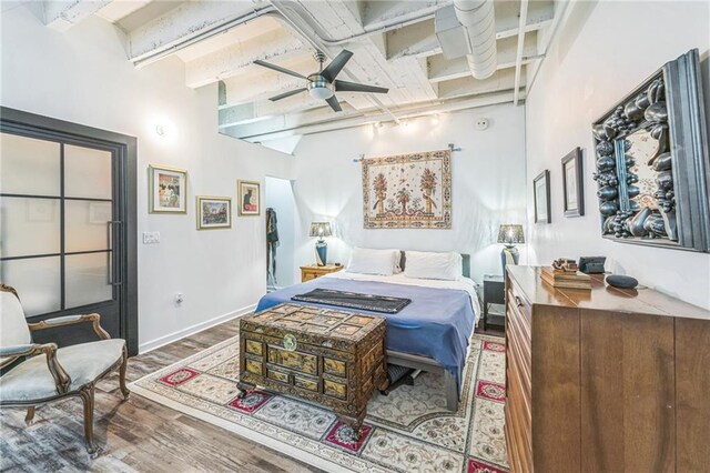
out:
<path id="1" fill-rule="evenodd" d="M 454 0 L 454 9 L 466 30 L 468 68 L 474 78 L 488 79 L 498 67 L 494 1 Z"/>

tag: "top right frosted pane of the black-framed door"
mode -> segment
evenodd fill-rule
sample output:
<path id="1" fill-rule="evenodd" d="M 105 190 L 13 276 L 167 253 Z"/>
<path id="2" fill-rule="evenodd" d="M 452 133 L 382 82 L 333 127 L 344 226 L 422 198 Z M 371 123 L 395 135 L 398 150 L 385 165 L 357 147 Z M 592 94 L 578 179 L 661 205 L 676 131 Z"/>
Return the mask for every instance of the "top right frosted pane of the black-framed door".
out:
<path id="1" fill-rule="evenodd" d="M 64 145 L 64 197 L 111 199 L 111 152 Z"/>

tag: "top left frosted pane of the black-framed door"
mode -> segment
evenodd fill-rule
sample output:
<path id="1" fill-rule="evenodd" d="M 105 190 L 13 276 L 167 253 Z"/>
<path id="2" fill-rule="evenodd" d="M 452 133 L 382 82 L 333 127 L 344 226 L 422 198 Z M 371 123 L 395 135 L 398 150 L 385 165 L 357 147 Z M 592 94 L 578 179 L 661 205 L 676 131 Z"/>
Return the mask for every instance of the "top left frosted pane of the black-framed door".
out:
<path id="1" fill-rule="evenodd" d="M 0 192 L 59 197 L 59 143 L 0 133 Z"/>

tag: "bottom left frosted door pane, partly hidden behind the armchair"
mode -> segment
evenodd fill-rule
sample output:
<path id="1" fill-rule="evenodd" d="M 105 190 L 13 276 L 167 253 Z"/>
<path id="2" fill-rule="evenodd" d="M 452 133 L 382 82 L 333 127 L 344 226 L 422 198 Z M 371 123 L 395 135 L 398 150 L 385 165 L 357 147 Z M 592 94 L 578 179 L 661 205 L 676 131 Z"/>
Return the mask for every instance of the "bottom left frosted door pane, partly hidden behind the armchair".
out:
<path id="1" fill-rule="evenodd" d="M 61 309 L 59 256 L 0 261 L 0 280 L 17 289 L 26 316 Z"/>

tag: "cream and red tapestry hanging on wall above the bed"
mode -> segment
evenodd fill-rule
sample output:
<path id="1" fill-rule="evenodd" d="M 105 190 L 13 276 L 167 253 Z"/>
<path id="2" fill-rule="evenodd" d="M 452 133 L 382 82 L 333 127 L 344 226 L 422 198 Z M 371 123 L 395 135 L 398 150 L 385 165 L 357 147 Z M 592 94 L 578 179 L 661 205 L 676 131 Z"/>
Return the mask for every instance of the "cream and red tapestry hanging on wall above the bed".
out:
<path id="1" fill-rule="evenodd" d="M 450 229 L 452 152 L 363 160 L 366 229 Z"/>

